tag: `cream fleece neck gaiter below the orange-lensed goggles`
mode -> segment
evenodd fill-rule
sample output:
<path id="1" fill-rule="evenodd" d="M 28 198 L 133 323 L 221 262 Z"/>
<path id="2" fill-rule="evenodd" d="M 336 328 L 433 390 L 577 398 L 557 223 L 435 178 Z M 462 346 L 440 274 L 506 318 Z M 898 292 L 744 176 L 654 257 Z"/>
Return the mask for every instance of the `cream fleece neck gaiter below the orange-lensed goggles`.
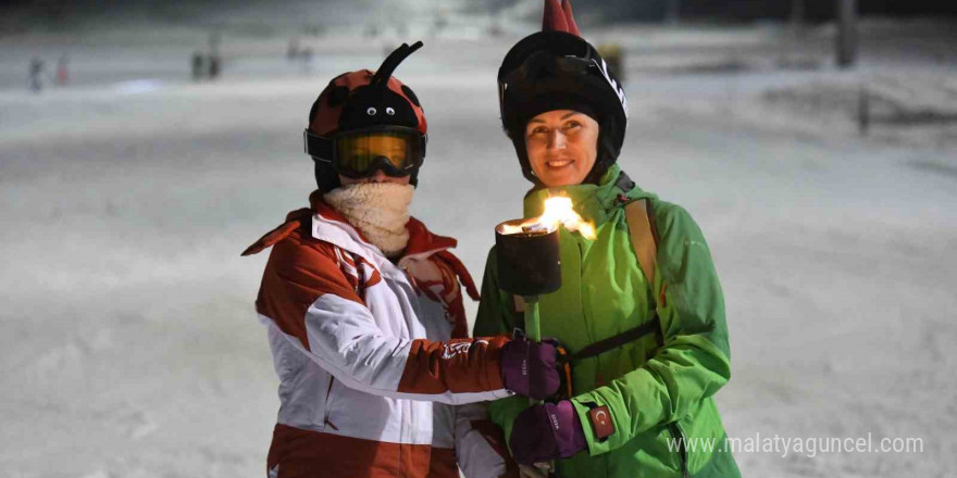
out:
<path id="1" fill-rule="evenodd" d="M 322 199 L 346 216 L 383 254 L 395 257 L 409 243 L 406 223 L 414 190 L 412 185 L 358 183 L 339 186 Z"/>

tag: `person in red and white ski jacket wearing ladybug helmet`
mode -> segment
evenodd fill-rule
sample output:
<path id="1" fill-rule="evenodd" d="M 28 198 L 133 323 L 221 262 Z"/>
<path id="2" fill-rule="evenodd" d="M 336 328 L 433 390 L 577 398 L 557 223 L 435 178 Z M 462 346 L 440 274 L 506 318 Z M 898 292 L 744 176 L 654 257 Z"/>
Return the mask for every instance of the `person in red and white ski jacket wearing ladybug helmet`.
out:
<path id="1" fill-rule="evenodd" d="M 244 252 L 273 247 L 256 301 L 281 381 L 270 476 L 517 476 L 472 402 L 558 389 L 552 345 L 468 338 L 456 240 L 409 216 L 427 128 L 391 73 L 421 46 L 330 81 L 304 131 L 310 207 Z"/>

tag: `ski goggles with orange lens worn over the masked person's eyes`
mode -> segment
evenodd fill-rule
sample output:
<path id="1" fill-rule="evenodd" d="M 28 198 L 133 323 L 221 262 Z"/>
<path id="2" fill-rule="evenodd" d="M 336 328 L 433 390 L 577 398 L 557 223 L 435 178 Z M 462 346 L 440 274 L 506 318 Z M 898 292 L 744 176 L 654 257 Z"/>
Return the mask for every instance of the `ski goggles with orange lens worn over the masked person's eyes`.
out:
<path id="1" fill-rule="evenodd" d="M 343 176 L 369 177 L 376 171 L 401 177 L 415 173 L 425 159 L 426 136 L 405 126 L 374 126 L 331 137 L 303 131 L 306 153 L 330 163 Z"/>

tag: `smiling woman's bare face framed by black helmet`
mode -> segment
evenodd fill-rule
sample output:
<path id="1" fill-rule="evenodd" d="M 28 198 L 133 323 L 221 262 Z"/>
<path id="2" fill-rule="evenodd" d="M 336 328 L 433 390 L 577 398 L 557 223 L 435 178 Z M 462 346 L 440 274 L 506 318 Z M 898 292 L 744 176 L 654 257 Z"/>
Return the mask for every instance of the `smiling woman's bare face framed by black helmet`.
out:
<path id="1" fill-rule="evenodd" d="M 598 156 L 598 122 L 572 110 L 542 113 L 525 126 L 525 149 L 545 186 L 581 184 Z"/>

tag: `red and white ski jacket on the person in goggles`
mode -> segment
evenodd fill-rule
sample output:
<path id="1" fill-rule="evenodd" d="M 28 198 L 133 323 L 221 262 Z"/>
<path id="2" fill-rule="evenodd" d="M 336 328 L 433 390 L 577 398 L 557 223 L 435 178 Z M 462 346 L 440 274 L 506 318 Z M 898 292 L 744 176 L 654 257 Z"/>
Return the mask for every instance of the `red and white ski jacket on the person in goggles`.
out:
<path id="1" fill-rule="evenodd" d="M 273 247 L 256 301 L 279 377 L 269 476 L 517 476 L 484 406 L 464 405 L 510 393 L 506 339 L 467 338 L 459 280 L 477 292 L 456 240 L 412 218 L 394 264 L 310 202 L 244 252 Z"/>

